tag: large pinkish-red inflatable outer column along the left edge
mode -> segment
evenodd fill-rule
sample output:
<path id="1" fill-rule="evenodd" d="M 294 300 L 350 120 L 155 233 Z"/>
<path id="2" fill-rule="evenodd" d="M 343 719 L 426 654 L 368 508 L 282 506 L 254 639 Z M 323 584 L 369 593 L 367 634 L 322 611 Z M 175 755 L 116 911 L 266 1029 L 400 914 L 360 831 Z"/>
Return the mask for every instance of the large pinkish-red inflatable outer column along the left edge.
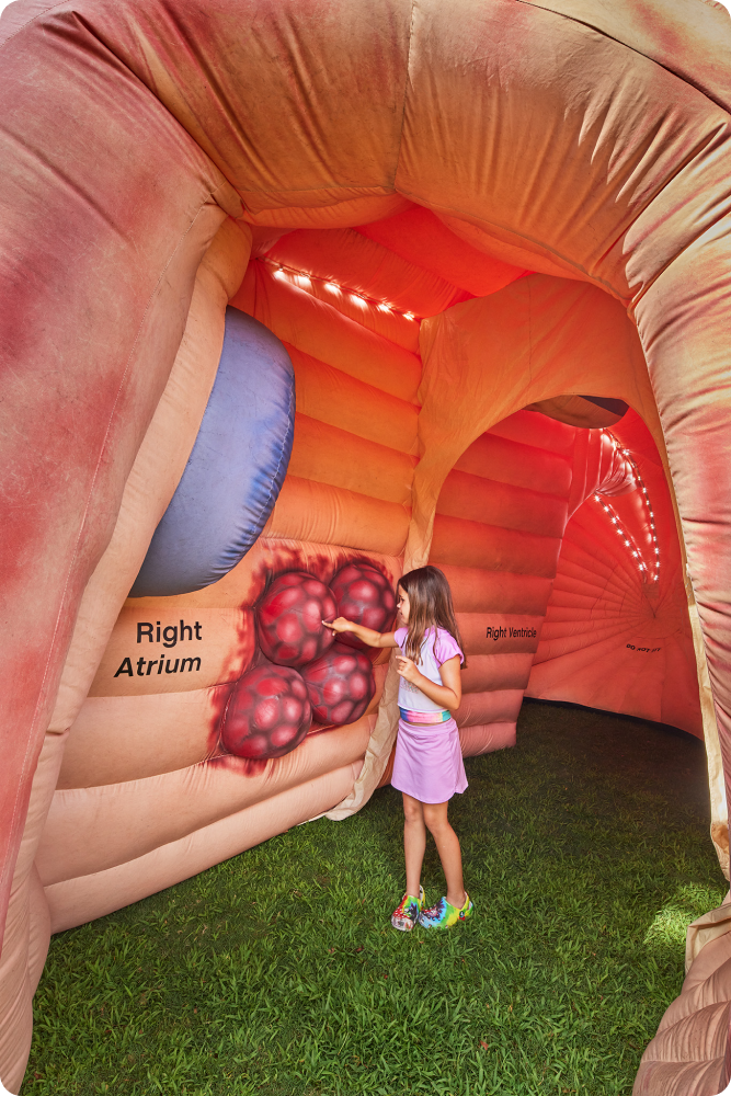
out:
<path id="1" fill-rule="evenodd" d="M 5 604 L 22 606 L 0 637 L 0 925 L 79 601 L 170 376 L 201 259 L 226 212 L 241 212 L 83 18 L 56 7 L 47 31 L 37 12 L 19 14 L 2 45 L 0 89 L 12 209 L 0 465 L 12 469 L 2 505 L 15 515 L 0 558 Z"/>

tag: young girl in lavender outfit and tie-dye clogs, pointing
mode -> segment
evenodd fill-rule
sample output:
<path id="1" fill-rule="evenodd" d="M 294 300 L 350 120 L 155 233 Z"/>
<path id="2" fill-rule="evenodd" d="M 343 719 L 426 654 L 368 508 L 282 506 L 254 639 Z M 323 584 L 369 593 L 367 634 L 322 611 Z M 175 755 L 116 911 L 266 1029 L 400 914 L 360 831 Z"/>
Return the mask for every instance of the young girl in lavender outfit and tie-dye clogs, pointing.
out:
<path id="1" fill-rule="evenodd" d="M 399 734 L 393 758 L 392 787 L 403 795 L 403 849 L 407 892 L 393 911 L 391 924 L 410 932 L 416 921 L 424 928 L 450 928 L 472 913 L 462 882 L 459 841 L 447 820 L 447 806 L 467 787 L 457 724 L 450 712 L 461 700 L 461 639 L 449 585 L 436 567 L 420 567 L 398 584 L 398 607 L 406 627 L 378 632 L 338 617 L 334 632 L 352 631 L 369 647 L 400 647 Z M 447 893 L 425 909 L 421 867 L 426 846 L 424 826 L 436 842 Z"/>

